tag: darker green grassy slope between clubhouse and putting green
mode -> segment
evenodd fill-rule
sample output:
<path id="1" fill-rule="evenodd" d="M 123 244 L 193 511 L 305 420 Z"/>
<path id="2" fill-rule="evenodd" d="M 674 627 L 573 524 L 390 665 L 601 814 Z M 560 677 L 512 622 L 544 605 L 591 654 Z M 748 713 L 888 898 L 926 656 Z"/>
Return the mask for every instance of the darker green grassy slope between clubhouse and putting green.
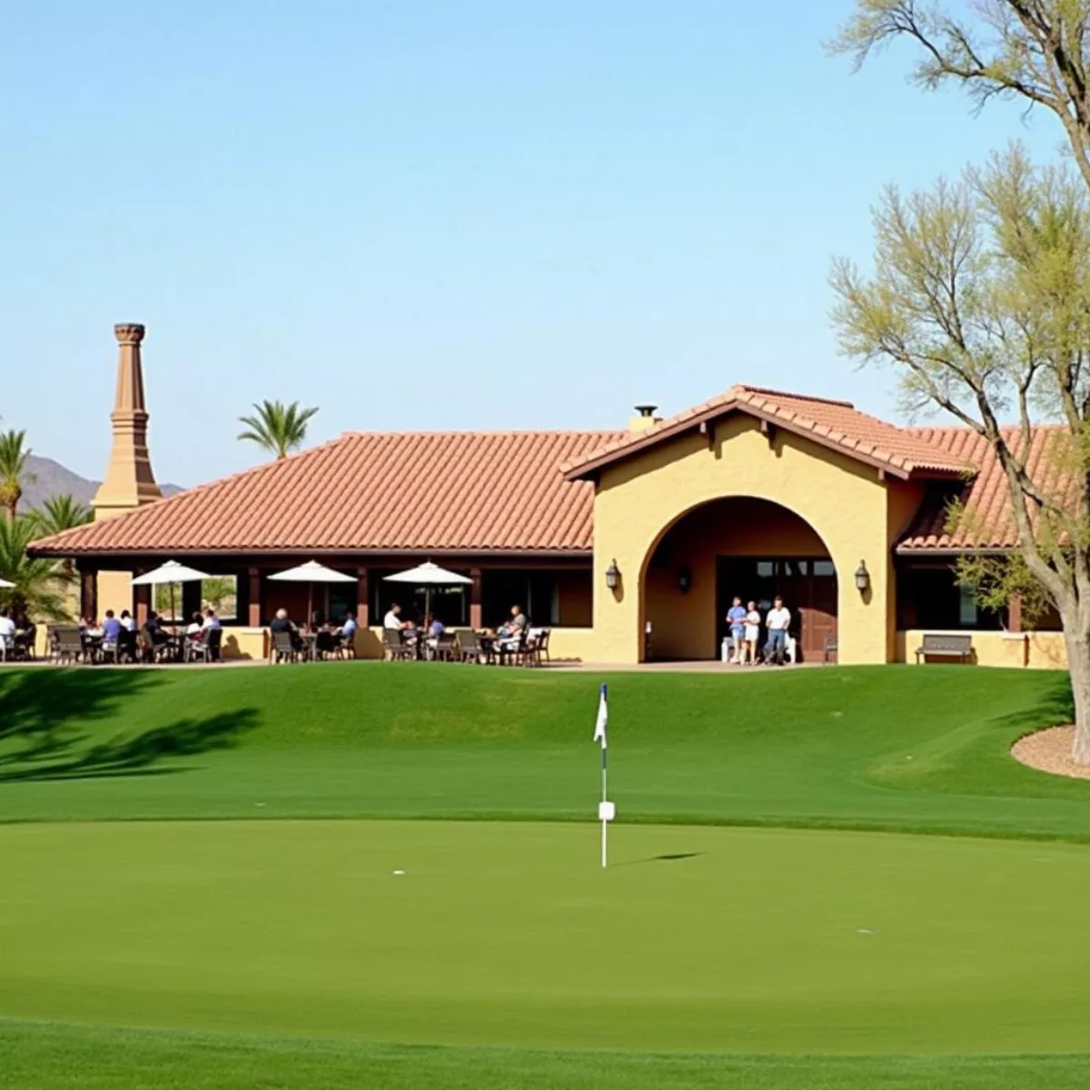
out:
<path id="1" fill-rule="evenodd" d="M 346 664 L 0 670 L 0 820 L 593 813 L 591 674 Z M 625 821 L 1090 838 L 1090 783 L 1010 760 L 1058 674 L 609 678 Z"/>

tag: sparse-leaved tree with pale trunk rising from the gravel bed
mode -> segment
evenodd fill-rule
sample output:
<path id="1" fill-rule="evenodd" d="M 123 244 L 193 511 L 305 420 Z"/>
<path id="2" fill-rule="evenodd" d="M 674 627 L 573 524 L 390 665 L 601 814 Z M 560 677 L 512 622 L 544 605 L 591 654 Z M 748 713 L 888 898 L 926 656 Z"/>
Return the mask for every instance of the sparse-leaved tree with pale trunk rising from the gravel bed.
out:
<path id="1" fill-rule="evenodd" d="M 1059 614 L 1074 755 L 1090 762 L 1090 190 L 1016 146 L 954 183 L 887 187 L 873 221 L 873 272 L 833 266 L 841 349 L 891 365 L 910 409 L 944 409 L 991 447 L 1025 572 Z M 1034 441 L 1040 416 L 1058 423 Z M 965 512 L 950 517 L 971 537 Z M 978 582 L 1021 580 L 1001 576 Z"/>

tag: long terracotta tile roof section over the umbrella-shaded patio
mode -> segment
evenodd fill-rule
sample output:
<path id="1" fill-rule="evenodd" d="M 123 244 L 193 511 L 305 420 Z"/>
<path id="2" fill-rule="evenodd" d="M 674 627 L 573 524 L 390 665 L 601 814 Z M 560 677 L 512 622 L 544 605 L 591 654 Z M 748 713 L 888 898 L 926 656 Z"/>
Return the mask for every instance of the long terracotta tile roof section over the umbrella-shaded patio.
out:
<path id="1" fill-rule="evenodd" d="M 591 548 L 594 489 L 562 461 L 614 432 L 349 434 L 36 552 L 511 552 Z"/>

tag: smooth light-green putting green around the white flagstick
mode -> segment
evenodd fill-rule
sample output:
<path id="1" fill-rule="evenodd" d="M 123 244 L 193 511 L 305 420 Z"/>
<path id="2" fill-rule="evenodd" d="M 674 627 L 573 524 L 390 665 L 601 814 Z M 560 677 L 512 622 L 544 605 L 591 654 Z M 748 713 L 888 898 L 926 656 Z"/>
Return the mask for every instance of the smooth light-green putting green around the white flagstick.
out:
<path id="1" fill-rule="evenodd" d="M 0 827 L 0 1017 L 744 1053 L 1086 1046 L 1090 848 L 618 824 Z M 404 875 L 396 875 L 404 870 Z"/>

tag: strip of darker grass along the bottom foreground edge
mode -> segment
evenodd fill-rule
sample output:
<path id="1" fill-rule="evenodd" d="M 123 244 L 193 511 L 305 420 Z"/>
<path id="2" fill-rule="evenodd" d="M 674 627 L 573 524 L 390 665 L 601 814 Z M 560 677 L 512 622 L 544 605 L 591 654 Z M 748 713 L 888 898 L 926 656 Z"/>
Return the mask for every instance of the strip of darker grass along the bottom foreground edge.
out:
<path id="1" fill-rule="evenodd" d="M 34 1090 L 1085 1090 L 1083 1056 L 779 1057 L 413 1047 L 4 1022 Z"/>

